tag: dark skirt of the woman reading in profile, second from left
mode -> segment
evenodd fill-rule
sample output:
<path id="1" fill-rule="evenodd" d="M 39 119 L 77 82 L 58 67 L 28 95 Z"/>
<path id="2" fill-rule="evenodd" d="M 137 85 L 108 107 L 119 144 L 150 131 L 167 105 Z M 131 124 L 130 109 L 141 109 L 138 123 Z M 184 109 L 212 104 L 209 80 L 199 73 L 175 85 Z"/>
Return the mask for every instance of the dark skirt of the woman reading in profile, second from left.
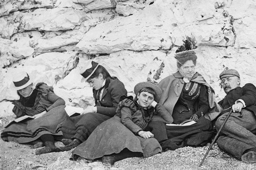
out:
<path id="1" fill-rule="evenodd" d="M 86 113 L 68 117 L 61 126 L 63 137 L 67 139 L 77 138 L 84 142 L 99 124 L 110 118 L 110 116 L 100 113 Z"/>

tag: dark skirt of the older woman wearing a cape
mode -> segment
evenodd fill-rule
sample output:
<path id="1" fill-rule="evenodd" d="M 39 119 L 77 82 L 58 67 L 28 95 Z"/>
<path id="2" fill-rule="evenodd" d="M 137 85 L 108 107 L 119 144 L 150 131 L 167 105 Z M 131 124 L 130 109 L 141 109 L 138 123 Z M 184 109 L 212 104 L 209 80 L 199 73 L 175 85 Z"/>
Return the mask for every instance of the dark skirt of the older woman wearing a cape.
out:
<path id="1" fill-rule="evenodd" d="M 212 139 L 215 130 L 211 121 L 202 117 L 193 125 L 166 126 L 166 132 L 168 139 L 161 142 L 161 146 L 163 150 L 175 150 L 185 146 L 204 146 Z"/>

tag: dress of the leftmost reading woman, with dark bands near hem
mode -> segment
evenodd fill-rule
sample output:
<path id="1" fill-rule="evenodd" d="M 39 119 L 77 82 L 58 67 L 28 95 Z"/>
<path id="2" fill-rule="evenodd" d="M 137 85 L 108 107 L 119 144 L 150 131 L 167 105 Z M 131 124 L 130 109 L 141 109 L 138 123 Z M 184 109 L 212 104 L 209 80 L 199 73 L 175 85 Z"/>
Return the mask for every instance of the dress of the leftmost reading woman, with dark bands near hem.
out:
<path id="1" fill-rule="evenodd" d="M 1 133 L 4 141 L 28 143 L 44 134 L 62 136 L 60 125 L 67 117 L 65 101 L 53 92 L 52 87 L 40 82 L 29 97 L 21 97 L 13 104 L 15 106 L 12 111 L 17 117 L 35 116 L 43 111 L 47 113 L 37 119 L 11 124 Z"/>

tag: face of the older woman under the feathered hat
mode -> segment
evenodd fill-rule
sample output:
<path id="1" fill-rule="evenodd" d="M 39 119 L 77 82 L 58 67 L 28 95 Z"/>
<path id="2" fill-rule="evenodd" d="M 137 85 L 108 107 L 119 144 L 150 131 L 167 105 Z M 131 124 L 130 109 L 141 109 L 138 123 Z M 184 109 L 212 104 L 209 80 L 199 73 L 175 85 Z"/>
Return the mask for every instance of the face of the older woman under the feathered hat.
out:
<path id="1" fill-rule="evenodd" d="M 192 60 L 188 60 L 183 65 L 181 65 L 179 71 L 183 77 L 191 79 L 195 74 L 195 64 Z"/>

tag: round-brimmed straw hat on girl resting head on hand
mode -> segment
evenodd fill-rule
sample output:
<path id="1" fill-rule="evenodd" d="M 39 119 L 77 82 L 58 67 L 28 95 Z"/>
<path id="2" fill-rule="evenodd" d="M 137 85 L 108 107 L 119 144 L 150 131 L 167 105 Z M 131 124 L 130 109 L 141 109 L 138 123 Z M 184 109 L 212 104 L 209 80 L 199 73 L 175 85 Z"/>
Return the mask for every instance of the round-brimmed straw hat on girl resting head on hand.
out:
<path id="1" fill-rule="evenodd" d="M 134 93 L 137 95 L 142 88 L 152 88 L 156 92 L 154 101 L 159 102 L 162 97 L 162 90 L 154 82 L 139 82 L 134 87 Z"/>

